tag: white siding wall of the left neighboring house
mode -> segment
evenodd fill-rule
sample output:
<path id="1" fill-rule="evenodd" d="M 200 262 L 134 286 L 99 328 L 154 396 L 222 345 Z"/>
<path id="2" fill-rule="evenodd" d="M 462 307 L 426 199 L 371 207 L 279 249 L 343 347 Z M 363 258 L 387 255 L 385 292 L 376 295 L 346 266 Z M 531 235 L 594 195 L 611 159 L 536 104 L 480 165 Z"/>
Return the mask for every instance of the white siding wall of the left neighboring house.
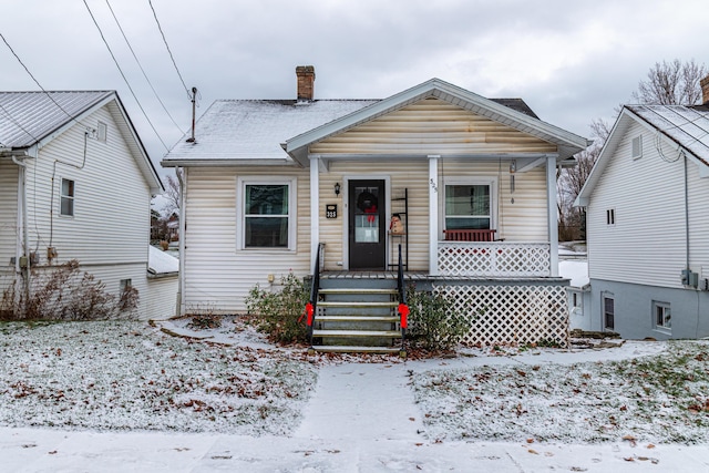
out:
<path id="1" fill-rule="evenodd" d="M 89 136 L 83 157 L 88 127 L 102 121 L 111 130 L 123 130 L 109 109 L 84 117 L 43 146 L 37 158 L 25 161 L 30 247 L 39 248 L 38 267 L 48 264 L 47 247 L 52 246 L 58 255 L 52 265 L 79 260 L 82 271 L 116 297 L 120 281 L 131 279 L 138 290 L 138 315 L 148 318 L 151 191 L 127 144 L 134 136 L 109 133 L 105 143 Z M 60 215 L 62 179 L 76 183 L 72 218 Z M 13 198 L 17 202 L 17 194 Z"/>

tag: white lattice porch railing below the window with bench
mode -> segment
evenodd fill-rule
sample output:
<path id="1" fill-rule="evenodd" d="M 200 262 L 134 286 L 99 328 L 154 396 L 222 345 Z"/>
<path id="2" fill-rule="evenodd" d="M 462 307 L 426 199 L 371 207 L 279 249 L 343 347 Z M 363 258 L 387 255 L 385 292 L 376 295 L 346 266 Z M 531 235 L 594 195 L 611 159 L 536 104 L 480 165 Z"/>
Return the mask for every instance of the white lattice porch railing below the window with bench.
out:
<path id="1" fill-rule="evenodd" d="M 551 245 L 547 243 L 439 241 L 442 276 L 547 277 Z"/>

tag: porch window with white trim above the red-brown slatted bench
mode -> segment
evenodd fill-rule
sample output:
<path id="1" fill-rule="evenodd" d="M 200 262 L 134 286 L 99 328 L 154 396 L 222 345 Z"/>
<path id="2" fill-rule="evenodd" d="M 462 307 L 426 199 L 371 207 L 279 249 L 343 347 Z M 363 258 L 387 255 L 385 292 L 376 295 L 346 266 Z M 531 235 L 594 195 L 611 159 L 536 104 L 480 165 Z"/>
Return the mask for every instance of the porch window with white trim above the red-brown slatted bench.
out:
<path id="1" fill-rule="evenodd" d="M 494 229 L 493 182 L 445 184 L 445 229 Z"/>

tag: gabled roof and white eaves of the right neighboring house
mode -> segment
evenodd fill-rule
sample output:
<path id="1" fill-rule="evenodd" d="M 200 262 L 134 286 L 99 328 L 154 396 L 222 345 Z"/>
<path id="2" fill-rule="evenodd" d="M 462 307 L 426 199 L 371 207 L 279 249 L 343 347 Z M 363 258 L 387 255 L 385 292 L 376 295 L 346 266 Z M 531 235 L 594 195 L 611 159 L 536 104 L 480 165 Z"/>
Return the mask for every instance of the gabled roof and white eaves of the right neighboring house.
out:
<path id="1" fill-rule="evenodd" d="M 656 133 L 658 138 L 676 148 L 678 153 L 685 153 L 699 166 L 699 175 L 709 177 L 709 109 L 684 105 L 625 105 L 575 205 L 588 205 L 596 184 L 634 122 Z"/>

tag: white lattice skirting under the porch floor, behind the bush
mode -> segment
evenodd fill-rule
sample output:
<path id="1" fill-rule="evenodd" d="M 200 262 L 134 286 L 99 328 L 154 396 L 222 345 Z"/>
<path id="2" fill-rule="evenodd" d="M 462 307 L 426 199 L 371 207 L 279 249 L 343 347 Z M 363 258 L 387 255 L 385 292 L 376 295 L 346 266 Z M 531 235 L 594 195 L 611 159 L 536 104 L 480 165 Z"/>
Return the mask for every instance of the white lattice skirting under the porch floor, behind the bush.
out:
<path id="1" fill-rule="evenodd" d="M 566 289 L 561 285 L 433 282 L 470 323 L 466 346 L 553 342 L 568 347 Z"/>

